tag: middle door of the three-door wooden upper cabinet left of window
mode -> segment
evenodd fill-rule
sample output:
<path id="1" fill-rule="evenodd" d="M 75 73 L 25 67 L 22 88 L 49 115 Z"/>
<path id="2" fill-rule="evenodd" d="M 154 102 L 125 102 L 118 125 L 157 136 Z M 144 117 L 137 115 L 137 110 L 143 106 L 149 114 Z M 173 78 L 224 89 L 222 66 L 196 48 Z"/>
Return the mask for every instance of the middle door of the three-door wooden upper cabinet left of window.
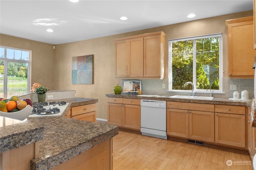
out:
<path id="1" fill-rule="evenodd" d="M 143 38 L 128 40 L 128 77 L 143 77 Z"/>

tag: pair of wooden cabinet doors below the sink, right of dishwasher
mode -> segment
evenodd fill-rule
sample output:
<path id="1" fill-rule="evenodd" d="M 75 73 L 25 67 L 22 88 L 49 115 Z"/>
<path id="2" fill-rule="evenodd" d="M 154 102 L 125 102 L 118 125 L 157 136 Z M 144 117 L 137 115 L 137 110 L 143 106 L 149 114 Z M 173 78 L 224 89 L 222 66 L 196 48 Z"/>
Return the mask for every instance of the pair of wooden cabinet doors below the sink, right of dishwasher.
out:
<path id="1" fill-rule="evenodd" d="M 168 108 L 167 134 L 214 142 L 214 112 Z"/>

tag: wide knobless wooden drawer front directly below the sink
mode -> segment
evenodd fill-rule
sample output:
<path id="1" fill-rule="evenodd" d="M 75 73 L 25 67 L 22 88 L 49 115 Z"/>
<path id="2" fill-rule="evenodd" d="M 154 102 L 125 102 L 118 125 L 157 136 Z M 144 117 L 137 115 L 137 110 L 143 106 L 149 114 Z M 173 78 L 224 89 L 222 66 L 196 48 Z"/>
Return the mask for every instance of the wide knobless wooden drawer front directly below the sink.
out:
<path id="1" fill-rule="evenodd" d="M 167 108 L 214 112 L 214 104 L 167 102 Z"/>

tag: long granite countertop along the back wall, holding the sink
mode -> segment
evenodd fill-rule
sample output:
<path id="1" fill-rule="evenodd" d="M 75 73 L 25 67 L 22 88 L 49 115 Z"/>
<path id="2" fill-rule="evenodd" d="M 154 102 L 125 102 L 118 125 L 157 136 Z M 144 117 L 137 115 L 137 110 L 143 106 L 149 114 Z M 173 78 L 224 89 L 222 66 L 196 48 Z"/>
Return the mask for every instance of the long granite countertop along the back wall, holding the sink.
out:
<path id="1" fill-rule="evenodd" d="M 166 95 L 166 96 L 169 96 L 169 95 Z M 252 105 L 252 100 L 249 100 L 249 101 L 229 100 L 228 98 L 214 98 L 213 100 L 198 100 L 198 99 L 179 99 L 179 98 L 167 98 L 167 97 L 143 97 L 143 96 L 138 96 L 138 94 L 106 94 L 106 97 L 132 98 L 132 99 L 144 99 L 144 100 L 162 100 L 162 101 L 170 101 L 170 102 L 188 102 L 188 103 L 202 103 L 202 104 L 221 104 L 221 105 L 233 105 L 233 106 L 251 106 Z"/>

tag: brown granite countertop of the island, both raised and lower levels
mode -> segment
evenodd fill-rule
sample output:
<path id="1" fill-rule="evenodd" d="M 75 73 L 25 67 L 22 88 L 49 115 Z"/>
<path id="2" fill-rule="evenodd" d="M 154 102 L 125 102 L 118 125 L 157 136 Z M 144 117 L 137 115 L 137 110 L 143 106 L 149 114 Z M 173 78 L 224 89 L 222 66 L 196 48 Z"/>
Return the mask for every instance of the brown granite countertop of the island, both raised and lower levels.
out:
<path id="1" fill-rule="evenodd" d="M 69 107 L 94 104 L 98 99 L 68 98 L 58 101 L 69 103 L 61 116 L 29 117 L 27 121 L 0 127 L 1 153 L 20 147 L 16 146 L 18 141 L 26 141 L 26 145 L 39 141 L 39 157 L 31 160 L 31 170 L 48 170 L 118 135 L 115 125 L 64 117 Z"/>

